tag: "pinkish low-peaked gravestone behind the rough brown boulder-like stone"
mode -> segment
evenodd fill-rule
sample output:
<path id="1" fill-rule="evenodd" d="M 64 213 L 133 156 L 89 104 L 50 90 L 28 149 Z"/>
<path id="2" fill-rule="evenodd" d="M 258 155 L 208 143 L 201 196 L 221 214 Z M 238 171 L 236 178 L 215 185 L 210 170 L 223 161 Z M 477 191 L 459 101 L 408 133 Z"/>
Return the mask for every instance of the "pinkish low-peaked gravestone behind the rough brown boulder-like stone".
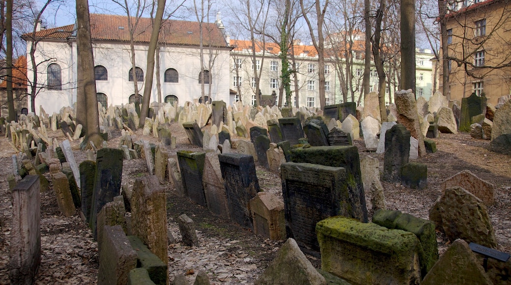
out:
<path id="1" fill-rule="evenodd" d="M 495 186 L 488 181 L 480 179 L 470 170 L 463 170 L 442 181 L 440 183 L 440 190 L 442 190 L 442 193 L 444 193 L 447 188 L 454 186 L 460 186 L 461 188 L 474 194 L 487 206 L 491 206 L 493 204 Z"/>

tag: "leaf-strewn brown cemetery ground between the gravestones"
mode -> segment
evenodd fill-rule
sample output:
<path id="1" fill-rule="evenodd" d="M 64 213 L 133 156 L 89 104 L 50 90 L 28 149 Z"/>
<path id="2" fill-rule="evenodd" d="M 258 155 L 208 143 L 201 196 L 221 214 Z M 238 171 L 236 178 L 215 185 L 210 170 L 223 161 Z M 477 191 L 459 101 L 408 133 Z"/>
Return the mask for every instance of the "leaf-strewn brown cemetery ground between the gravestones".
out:
<path id="1" fill-rule="evenodd" d="M 189 143 L 184 129 L 177 123 L 173 123 L 170 129 L 177 137 L 176 149 L 167 149 L 170 156 L 175 155 L 176 150 L 200 151 Z M 65 139 L 60 130 L 49 131 L 49 136 L 57 138 L 59 143 Z M 158 143 L 158 139 L 152 136 L 143 136 L 142 130 L 136 132 L 133 140 L 142 138 Z M 120 131 L 112 131 L 109 147 L 118 148 L 119 140 Z M 488 209 L 499 243 L 498 249 L 511 252 L 511 156 L 490 152 L 489 140 L 473 139 L 467 133 L 441 134 L 433 140 L 438 151 L 417 160 L 427 164 L 428 186 L 415 190 L 382 181 L 386 208 L 428 219 L 428 209 L 441 195 L 440 182 L 462 170 L 470 170 L 495 185 L 495 203 Z M 77 163 L 80 163 L 85 160 L 85 153 L 78 150 L 78 144 L 78 141 L 71 142 Z M 355 145 L 361 158 L 365 155 L 378 158 L 380 171 L 383 171 L 383 154 L 366 151 L 362 139 L 356 140 Z M 0 284 L 8 284 L 12 205 L 7 176 L 13 173 L 11 155 L 15 151 L 4 136 L 0 137 L 0 146 Z M 259 166 L 256 170 L 261 189 L 282 197 L 280 175 Z M 144 159 L 124 160 L 122 184 L 132 186 L 136 177 L 147 174 Z M 168 246 L 170 280 L 183 273 L 193 282 L 197 272 L 203 269 L 213 284 L 250 284 L 264 271 L 283 244 L 283 241 L 265 240 L 233 222 L 216 218 L 206 208 L 177 195 L 172 183 L 165 182 L 162 186 L 167 193 L 168 228 L 175 238 L 175 242 Z M 367 192 L 365 200 L 367 209 L 371 209 Z M 195 222 L 198 247 L 187 247 L 180 243 L 176 218 L 183 213 Z M 372 214 L 369 210 L 369 220 Z M 439 232 L 437 241 L 442 254 L 449 246 L 449 241 Z M 315 267 L 320 267 L 319 258 L 307 257 Z M 51 180 L 48 190 L 41 193 L 41 259 L 37 284 L 95 284 L 97 281 L 97 243 L 80 219 L 79 210 L 69 218 L 61 215 Z"/>

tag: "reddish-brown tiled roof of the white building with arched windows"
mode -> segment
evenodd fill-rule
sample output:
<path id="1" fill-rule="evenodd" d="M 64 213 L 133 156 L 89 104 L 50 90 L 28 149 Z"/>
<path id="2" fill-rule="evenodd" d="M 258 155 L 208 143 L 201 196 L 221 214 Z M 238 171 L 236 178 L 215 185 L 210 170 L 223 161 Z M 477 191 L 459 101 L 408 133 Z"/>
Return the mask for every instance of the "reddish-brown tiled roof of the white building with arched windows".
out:
<path id="1" fill-rule="evenodd" d="M 131 17 L 134 22 L 136 18 Z M 132 24 L 133 25 L 133 24 Z M 36 32 L 36 37 L 64 39 L 71 35 L 74 25 L 47 29 Z M 215 23 L 203 23 L 203 45 L 227 47 L 220 29 Z M 63 30 L 62 33 L 58 31 Z M 137 43 L 148 43 L 151 39 L 152 23 L 150 18 L 140 18 L 134 30 Z M 30 34 L 24 36 L 30 37 Z M 128 42 L 128 17 L 120 15 L 90 14 L 90 36 L 92 40 Z M 162 44 L 196 45 L 200 44 L 199 23 L 194 21 L 164 20 L 161 24 L 159 42 Z"/>

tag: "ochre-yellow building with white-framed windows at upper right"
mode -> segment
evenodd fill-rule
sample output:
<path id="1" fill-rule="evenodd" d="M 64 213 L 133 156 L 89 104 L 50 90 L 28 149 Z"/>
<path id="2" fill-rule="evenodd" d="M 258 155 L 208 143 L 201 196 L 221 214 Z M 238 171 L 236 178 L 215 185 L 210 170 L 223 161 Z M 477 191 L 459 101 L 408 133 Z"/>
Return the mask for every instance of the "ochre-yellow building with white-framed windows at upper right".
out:
<path id="1" fill-rule="evenodd" d="M 495 106 L 511 89 L 511 4 L 454 1 L 446 17 L 451 101 L 475 92 Z"/>

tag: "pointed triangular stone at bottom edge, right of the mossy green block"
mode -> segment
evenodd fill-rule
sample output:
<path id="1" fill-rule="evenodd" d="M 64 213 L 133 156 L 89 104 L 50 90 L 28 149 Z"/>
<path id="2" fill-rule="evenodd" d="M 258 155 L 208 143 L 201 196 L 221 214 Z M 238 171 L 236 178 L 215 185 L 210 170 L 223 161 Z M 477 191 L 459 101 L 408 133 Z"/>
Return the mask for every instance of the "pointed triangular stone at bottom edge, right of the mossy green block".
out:
<path id="1" fill-rule="evenodd" d="M 469 245 L 463 240 L 456 240 L 442 254 L 421 284 L 490 285 L 493 282 L 478 263 Z"/>

